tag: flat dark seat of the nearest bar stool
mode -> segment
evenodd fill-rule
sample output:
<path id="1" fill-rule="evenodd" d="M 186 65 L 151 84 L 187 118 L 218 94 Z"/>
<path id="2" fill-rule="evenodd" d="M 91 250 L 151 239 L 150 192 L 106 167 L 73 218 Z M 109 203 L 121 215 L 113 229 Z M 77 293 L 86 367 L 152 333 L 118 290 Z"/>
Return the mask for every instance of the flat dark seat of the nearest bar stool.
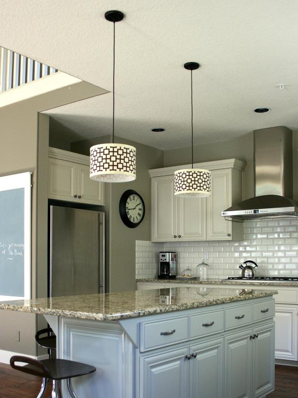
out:
<path id="1" fill-rule="evenodd" d="M 83 376 L 95 372 L 96 370 L 94 366 L 69 361 L 67 359 L 43 359 L 39 362 L 43 364 L 47 370 L 47 374 L 43 377 L 51 380 L 72 379 L 73 377 Z M 25 365 L 22 368 L 24 372 L 25 369 L 28 370 L 28 373 L 31 371 L 31 374 L 34 374 L 33 372 L 36 371 L 36 366 L 32 364 Z M 22 371 L 20 368 L 18 370 Z"/>

